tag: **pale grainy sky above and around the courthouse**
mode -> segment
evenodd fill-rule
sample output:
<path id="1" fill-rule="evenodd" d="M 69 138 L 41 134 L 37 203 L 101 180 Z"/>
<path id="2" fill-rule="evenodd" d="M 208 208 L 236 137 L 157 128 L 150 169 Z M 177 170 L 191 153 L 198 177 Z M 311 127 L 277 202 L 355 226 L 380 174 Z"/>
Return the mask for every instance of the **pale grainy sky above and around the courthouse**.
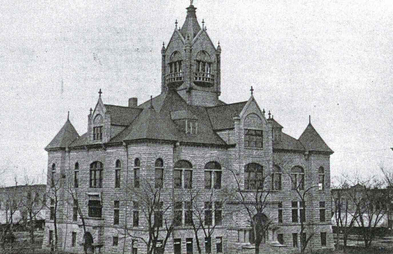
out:
<path id="1" fill-rule="evenodd" d="M 70 111 L 81 135 L 103 101 L 161 89 L 162 42 L 189 1 L 5 1 L 0 8 L 2 185 L 45 182 L 44 147 Z M 393 170 L 393 1 L 202 1 L 222 47 L 220 99 L 261 108 L 299 138 L 311 122 L 334 150 L 333 176 Z M 46 172 L 45 172 L 46 173 Z M 4 178 L 4 180 L 3 180 Z"/>

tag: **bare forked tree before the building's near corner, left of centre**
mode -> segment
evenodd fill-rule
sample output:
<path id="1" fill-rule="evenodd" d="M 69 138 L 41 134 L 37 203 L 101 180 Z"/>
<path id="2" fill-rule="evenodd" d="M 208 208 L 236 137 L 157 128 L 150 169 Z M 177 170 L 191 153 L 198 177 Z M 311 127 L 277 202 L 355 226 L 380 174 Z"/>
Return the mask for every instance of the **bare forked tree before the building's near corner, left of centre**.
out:
<path id="1" fill-rule="evenodd" d="M 144 223 L 145 230 L 148 232 L 148 237 L 143 237 L 138 234 L 134 234 L 133 230 L 127 230 L 125 227 L 125 237 L 131 237 L 134 239 L 140 239 L 145 243 L 147 254 L 152 254 L 155 251 L 164 253 L 165 246 L 171 233 L 173 232 L 173 199 L 167 198 L 171 196 L 168 190 L 163 189 L 160 185 L 154 184 L 154 179 L 142 178 L 137 188 L 129 188 L 129 200 L 133 202 L 134 206 L 143 216 L 140 216 L 141 222 Z M 163 241 L 161 246 L 157 248 L 159 237 L 162 236 L 160 232 L 163 232 Z"/>

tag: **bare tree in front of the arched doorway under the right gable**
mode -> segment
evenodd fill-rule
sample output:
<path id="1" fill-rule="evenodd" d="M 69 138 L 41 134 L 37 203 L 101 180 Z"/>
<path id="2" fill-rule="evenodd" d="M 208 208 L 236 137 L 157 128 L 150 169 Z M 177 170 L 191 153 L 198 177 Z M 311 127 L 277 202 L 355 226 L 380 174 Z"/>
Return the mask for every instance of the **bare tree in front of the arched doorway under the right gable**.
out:
<path id="1" fill-rule="evenodd" d="M 229 170 L 236 181 L 236 187 L 233 190 L 228 190 L 227 195 L 232 197 L 232 202 L 241 204 L 246 210 L 248 223 L 250 223 L 253 234 L 250 239 L 255 243 L 255 254 L 259 254 L 259 246 L 266 241 L 266 231 L 274 221 L 274 218 L 270 218 L 265 214 L 271 203 L 268 201 L 270 188 L 264 188 L 267 176 L 259 179 L 248 179 L 252 191 L 244 191 L 241 187 L 239 174 L 231 169 Z"/>

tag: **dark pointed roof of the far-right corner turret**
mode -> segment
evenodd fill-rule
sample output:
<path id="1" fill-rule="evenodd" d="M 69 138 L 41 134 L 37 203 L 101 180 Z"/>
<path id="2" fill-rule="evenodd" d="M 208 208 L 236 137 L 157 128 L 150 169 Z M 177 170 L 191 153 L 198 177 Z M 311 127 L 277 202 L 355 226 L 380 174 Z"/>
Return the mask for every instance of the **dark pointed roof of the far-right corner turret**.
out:
<path id="1" fill-rule="evenodd" d="M 307 151 L 320 151 L 327 153 L 334 153 L 332 149 L 327 146 L 320 134 L 314 129 L 311 123 L 307 125 L 306 129 L 300 135 L 299 141 L 304 145 Z"/>

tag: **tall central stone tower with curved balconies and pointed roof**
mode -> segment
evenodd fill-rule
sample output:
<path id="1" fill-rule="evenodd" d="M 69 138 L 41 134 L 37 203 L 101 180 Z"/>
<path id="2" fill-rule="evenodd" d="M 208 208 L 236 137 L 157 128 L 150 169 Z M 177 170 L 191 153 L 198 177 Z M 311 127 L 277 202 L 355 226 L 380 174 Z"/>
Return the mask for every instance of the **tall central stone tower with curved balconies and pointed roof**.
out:
<path id="1" fill-rule="evenodd" d="M 183 26 L 177 20 L 171 40 L 162 47 L 161 92 L 176 90 L 190 105 L 219 104 L 221 47 L 211 42 L 204 21 L 202 28 L 191 4 Z"/>

